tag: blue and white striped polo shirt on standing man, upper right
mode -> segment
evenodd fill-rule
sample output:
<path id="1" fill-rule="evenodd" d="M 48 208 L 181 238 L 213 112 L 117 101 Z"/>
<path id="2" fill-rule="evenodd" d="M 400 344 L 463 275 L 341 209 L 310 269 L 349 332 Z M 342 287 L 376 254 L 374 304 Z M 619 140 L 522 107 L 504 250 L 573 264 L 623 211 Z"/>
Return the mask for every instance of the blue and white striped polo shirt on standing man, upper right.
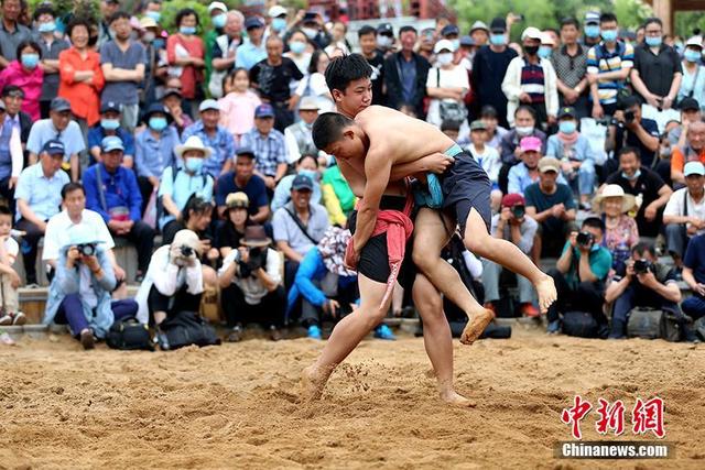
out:
<path id="1" fill-rule="evenodd" d="M 631 68 L 634 61 L 634 48 L 631 44 L 617 42 L 614 52 L 607 51 L 605 43 L 590 47 L 587 52 L 587 73 L 594 75 L 620 72 Z M 604 80 L 599 79 L 597 89 L 599 102 L 601 105 L 612 105 L 617 102 L 617 94 L 625 87 L 626 80 Z"/>

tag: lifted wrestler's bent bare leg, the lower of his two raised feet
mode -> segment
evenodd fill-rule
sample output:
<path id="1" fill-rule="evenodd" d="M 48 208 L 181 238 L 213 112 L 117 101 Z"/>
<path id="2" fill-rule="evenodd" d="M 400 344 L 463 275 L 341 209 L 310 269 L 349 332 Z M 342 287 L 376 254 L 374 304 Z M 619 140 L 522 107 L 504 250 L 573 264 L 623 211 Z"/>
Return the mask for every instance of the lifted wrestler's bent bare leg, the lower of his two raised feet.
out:
<path id="1" fill-rule="evenodd" d="M 441 212 L 427 208 L 419 211 L 414 221 L 414 264 L 451 302 L 465 311 L 468 325 L 487 326 L 494 318 L 491 310 L 477 303 L 458 272 L 441 258 L 441 250 L 453 233 L 448 233 L 448 230 L 455 229 L 452 218 L 446 215 L 443 217 L 444 220 L 441 219 Z M 466 342 L 473 342 L 475 339 Z"/>

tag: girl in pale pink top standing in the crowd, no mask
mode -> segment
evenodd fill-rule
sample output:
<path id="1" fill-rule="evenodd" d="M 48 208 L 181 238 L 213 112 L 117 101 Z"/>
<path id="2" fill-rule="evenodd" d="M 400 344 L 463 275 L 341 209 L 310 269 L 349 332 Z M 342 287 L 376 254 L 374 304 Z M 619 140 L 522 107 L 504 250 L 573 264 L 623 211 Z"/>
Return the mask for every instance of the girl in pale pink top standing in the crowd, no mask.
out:
<path id="1" fill-rule="evenodd" d="M 223 86 L 226 96 L 218 100 L 220 125 L 232 134 L 236 143 L 254 127 L 254 110 L 262 103 L 250 89 L 250 78 L 245 68 L 236 68 Z"/>

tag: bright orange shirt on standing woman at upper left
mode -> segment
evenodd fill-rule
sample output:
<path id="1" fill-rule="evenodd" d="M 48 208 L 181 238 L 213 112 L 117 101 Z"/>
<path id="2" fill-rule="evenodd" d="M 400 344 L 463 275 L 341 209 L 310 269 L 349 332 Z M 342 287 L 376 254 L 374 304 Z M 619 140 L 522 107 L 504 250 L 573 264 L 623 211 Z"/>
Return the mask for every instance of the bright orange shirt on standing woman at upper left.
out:
<path id="1" fill-rule="evenodd" d="M 76 72 L 93 70 L 93 84 L 76 81 Z M 58 54 L 58 96 L 70 102 L 72 112 L 94 125 L 100 120 L 100 90 L 106 84 L 100 68 L 100 54 L 88 51 L 83 58 L 75 47 Z"/>

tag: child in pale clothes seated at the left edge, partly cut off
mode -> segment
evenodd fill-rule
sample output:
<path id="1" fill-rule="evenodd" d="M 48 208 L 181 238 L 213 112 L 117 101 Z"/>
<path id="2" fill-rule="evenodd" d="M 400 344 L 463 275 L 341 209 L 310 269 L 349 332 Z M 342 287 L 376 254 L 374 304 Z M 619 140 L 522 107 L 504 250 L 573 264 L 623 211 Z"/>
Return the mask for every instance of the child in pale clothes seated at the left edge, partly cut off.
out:
<path id="1" fill-rule="evenodd" d="M 0 325 L 24 325 L 26 317 L 19 310 L 18 287 L 20 276 L 12 269 L 20 247 L 10 236 L 12 212 L 7 206 L 0 206 Z"/>

